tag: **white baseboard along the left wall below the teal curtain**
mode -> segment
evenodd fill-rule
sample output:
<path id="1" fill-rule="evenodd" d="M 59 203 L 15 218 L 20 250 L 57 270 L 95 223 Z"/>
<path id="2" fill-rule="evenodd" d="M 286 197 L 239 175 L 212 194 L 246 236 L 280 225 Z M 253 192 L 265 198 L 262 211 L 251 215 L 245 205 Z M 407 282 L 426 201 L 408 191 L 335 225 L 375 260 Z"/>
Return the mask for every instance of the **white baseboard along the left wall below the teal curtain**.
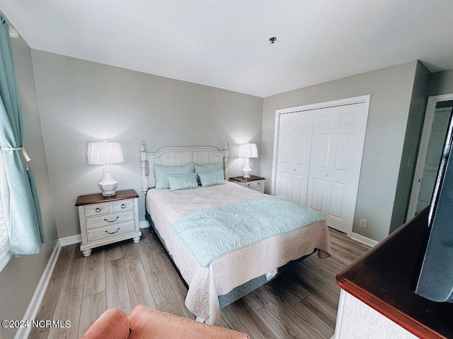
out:
<path id="1" fill-rule="evenodd" d="M 54 250 L 52 251 L 52 254 L 50 254 L 50 258 L 49 261 L 47 261 L 44 272 L 42 272 L 40 282 L 38 283 L 35 293 L 30 300 L 30 304 L 28 304 L 27 311 L 25 311 L 25 314 L 23 315 L 23 321 L 31 322 L 32 320 L 35 320 L 36 314 L 38 314 L 38 311 L 40 309 L 42 298 L 45 295 L 47 285 L 49 285 L 50 277 L 52 276 L 52 272 L 54 271 L 55 264 L 57 263 L 61 249 L 62 244 L 59 242 L 59 240 L 57 240 L 57 244 L 55 244 Z M 14 338 L 28 338 L 31 328 L 32 326 L 19 328 Z"/>

